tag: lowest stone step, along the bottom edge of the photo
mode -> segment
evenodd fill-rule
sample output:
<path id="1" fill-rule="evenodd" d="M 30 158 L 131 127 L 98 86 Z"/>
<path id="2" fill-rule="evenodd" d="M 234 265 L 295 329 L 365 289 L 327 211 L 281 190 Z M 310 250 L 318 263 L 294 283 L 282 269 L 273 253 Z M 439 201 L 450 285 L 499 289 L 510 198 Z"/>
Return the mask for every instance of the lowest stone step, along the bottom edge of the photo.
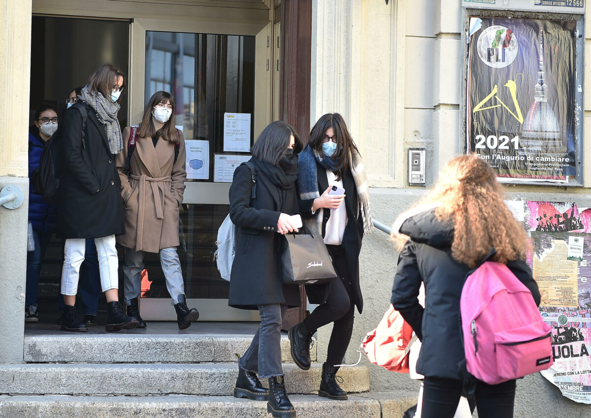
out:
<path id="1" fill-rule="evenodd" d="M 416 402 L 407 391 L 349 396 L 333 401 L 315 395 L 290 400 L 298 417 L 398 418 Z M 230 396 L 0 396 L 0 417 L 87 416 L 102 418 L 268 418 L 267 402 Z"/>

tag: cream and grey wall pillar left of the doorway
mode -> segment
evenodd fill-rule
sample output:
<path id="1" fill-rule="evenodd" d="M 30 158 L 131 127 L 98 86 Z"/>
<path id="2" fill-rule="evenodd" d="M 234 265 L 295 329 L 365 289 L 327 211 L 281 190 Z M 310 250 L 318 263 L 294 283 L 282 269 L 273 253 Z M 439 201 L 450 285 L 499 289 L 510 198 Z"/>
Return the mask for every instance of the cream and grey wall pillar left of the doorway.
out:
<path id="1" fill-rule="evenodd" d="M 25 195 L 17 209 L 0 206 L 0 364 L 23 359 L 30 51 L 31 1 L 0 0 L 0 189 Z"/>

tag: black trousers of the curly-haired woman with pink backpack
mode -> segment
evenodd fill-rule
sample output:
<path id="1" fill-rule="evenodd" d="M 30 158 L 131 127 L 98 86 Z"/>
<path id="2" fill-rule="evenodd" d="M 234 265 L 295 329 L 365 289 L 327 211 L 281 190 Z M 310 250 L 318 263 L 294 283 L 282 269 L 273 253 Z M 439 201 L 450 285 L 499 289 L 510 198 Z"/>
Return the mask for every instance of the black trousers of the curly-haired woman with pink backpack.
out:
<path id="1" fill-rule="evenodd" d="M 421 418 L 453 418 L 462 388 L 463 384 L 459 380 L 426 377 Z M 515 380 L 498 385 L 478 381 L 474 396 L 479 418 L 512 418 Z"/>

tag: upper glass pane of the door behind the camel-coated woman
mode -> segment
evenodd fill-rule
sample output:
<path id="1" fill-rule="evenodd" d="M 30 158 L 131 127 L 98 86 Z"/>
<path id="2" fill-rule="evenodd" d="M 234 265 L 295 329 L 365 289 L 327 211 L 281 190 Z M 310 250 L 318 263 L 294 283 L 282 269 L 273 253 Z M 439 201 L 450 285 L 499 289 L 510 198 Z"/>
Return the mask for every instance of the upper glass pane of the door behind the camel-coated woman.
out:
<path id="1" fill-rule="evenodd" d="M 145 102 L 158 90 L 173 93 L 185 139 L 209 141 L 209 180 L 193 181 L 213 181 L 225 112 L 251 114 L 252 145 L 254 72 L 254 36 L 146 32 Z"/>

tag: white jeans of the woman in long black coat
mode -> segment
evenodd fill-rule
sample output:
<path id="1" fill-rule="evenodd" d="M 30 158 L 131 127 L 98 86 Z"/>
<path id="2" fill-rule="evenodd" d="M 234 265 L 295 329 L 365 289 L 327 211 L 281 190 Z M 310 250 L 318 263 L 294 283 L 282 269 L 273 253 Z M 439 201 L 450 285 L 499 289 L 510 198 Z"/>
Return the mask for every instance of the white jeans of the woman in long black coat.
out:
<path id="1" fill-rule="evenodd" d="M 115 249 L 115 235 L 95 238 L 99 258 L 100 285 L 103 291 L 119 288 L 119 257 Z M 61 294 L 75 296 L 78 291 L 80 264 L 84 261 L 86 239 L 66 239 L 64 265 L 61 269 Z"/>

